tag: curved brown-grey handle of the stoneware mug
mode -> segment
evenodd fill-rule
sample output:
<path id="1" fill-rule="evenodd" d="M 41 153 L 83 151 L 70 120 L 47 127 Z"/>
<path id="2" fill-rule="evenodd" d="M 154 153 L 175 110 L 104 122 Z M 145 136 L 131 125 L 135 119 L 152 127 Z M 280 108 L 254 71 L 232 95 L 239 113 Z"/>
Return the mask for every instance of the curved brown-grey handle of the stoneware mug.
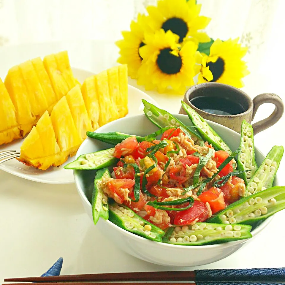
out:
<path id="1" fill-rule="evenodd" d="M 260 105 L 264 103 L 272 103 L 275 105 L 274 111 L 268 118 L 256 122 L 252 125 L 254 134 L 258 134 L 259 132 L 273 126 L 275 123 L 279 121 L 279 119 L 283 115 L 284 103 L 282 99 L 276 94 L 273 93 L 259 94 L 256 97 L 254 97 L 252 101 L 253 101 L 253 112 L 252 112 L 251 121 L 254 119 L 257 109 Z"/>

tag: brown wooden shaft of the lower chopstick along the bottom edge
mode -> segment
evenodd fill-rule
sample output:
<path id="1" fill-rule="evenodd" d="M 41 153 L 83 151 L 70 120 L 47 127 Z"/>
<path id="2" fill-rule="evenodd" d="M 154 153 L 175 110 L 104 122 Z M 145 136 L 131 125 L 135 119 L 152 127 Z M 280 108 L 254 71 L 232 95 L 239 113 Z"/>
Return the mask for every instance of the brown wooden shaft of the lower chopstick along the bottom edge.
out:
<path id="1" fill-rule="evenodd" d="M 129 283 L 129 282 L 35 282 L 35 283 L 4 283 L 2 285 L 196 285 L 195 283 L 140 283 L 140 282 L 135 282 L 135 283 Z"/>

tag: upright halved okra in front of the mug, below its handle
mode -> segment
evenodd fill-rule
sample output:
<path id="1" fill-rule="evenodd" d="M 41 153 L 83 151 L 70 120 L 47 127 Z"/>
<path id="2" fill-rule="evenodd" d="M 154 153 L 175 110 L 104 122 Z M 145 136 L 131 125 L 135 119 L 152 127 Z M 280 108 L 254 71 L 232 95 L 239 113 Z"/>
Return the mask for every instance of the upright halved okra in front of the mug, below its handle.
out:
<path id="1" fill-rule="evenodd" d="M 257 170 L 257 163 L 254 155 L 254 139 L 253 128 L 251 124 L 243 120 L 240 132 L 240 148 L 241 152 L 238 155 L 238 170 L 250 170 L 239 175 L 246 185 L 251 180 Z"/>

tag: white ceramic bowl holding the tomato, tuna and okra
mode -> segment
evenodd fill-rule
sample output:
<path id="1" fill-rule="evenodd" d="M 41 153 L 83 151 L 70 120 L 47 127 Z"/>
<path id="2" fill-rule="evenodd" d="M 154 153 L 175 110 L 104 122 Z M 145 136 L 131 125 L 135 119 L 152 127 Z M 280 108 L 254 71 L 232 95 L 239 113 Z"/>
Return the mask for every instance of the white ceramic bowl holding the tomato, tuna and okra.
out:
<path id="1" fill-rule="evenodd" d="M 188 116 L 178 114 L 175 115 L 175 117 L 181 120 L 184 124 L 191 125 L 191 121 L 189 120 Z M 210 124 L 210 126 L 221 135 L 232 150 L 238 148 L 240 134 L 211 121 L 208 121 L 208 124 Z M 153 125 L 148 118 L 145 117 L 145 115 L 137 115 L 113 121 L 99 128 L 97 132 L 118 131 L 126 134 L 145 136 L 155 132 L 156 130 L 157 127 Z M 87 138 L 78 149 L 76 158 L 81 154 L 95 152 L 110 147 L 113 146 Z M 258 148 L 256 148 L 255 156 L 257 164 L 260 164 L 265 158 Z M 91 201 L 94 177 L 95 171 L 92 170 L 74 171 L 74 178 L 78 193 L 92 222 L 92 209 L 89 201 Z M 278 185 L 277 178 L 275 179 L 275 185 Z M 254 229 L 252 231 L 253 237 L 250 239 L 208 246 L 178 246 L 154 242 L 127 232 L 110 221 L 105 221 L 103 219 L 99 219 L 99 222 L 94 227 L 98 227 L 101 232 L 105 233 L 107 238 L 110 238 L 113 244 L 116 244 L 123 251 L 131 254 L 134 257 L 159 265 L 184 267 L 205 265 L 229 256 L 241 248 L 245 243 L 254 240 L 254 237 L 267 226 L 272 218 L 273 217 L 269 217 L 256 229 Z M 96 243 L 94 243 L 94 246 L 96 246 Z"/>

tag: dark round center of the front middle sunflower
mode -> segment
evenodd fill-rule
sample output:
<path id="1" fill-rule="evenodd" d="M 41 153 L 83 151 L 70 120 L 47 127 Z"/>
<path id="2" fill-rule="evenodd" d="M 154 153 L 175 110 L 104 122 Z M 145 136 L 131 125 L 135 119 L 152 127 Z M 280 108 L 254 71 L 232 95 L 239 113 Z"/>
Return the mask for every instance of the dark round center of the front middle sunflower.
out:
<path id="1" fill-rule="evenodd" d="M 171 51 L 170 48 L 164 48 L 160 51 L 156 60 L 159 69 L 166 74 L 178 73 L 182 67 L 181 56 L 175 56 L 170 53 Z"/>

